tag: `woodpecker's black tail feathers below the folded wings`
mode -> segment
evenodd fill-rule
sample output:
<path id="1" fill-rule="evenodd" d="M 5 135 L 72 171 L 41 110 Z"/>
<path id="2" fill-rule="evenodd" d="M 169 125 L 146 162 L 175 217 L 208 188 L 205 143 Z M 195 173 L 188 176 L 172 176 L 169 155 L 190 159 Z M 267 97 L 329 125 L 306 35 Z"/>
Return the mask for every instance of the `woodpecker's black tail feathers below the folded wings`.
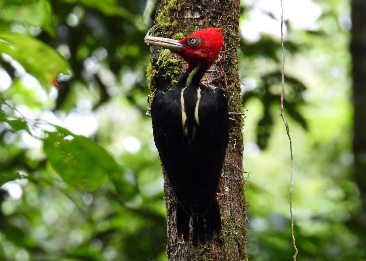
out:
<path id="1" fill-rule="evenodd" d="M 208 209 L 206 214 L 202 217 L 193 216 L 193 231 L 192 231 L 192 242 L 194 246 L 198 246 L 198 241 L 201 243 L 212 242 L 213 232 L 216 231 L 217 237 L 221 237 L 221 216 L 220 208 L 216 198 L 214 199 L 211 207 Z M 189 221 L 190 215 L 182 206 L 177 204 L 177 230 L 178 240 L 182 237 L 185 242 L 189 241 Z"/>

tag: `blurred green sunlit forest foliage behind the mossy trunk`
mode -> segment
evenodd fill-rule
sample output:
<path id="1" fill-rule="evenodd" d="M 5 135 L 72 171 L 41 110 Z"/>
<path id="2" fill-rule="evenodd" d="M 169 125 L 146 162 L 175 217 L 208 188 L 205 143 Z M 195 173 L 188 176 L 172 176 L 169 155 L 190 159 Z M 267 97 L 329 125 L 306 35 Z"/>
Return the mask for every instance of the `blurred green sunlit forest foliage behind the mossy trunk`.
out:
<path id="1" fill-rule="evenodd" d="M 240 16 L 249 260 L 290 260 L 279 13 L 258 2 L 242 1 Z M 298 260 L 366 260 L 351 177 L 350 7 L 312 4 L 314 22 L 285 26 Z M 0 260 L 167 260 L 163 177 L 145 116 L 154 3 L 0 5 Z M 277 35 L 248 37 L 258 10 Z"/>

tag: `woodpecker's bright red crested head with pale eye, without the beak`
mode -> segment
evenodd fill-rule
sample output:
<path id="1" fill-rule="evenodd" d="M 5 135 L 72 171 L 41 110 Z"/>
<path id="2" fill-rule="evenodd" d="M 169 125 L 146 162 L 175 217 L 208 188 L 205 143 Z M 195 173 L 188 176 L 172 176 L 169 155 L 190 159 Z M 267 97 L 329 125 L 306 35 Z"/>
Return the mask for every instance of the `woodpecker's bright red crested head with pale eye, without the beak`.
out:
<path id="1" fill-rule="evenodd" d="M 173 50 L 188 63 L 188 69 L 193 69 L 197 64 L 210 67 L 216 60 L 223 46 L 223 29 L 209 27 L 195 32 L 179 41 L 182 48 Z"/>

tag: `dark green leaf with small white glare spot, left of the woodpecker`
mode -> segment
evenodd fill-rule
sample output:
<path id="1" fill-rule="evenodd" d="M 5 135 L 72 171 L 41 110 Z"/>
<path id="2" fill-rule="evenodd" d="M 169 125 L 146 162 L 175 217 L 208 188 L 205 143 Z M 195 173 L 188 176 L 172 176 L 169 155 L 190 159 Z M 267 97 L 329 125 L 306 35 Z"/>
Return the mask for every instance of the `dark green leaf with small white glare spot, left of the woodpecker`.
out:
<path id="1" fill-rule="evenodd" d="M 46 132 L 43 150 L 53 169 L 75 189 L 91 192 L 108 176 L 116 190 L 125 198 L 132 196 L 134 186 L 124 180 L 124 169 L 100 145 L 84 136 L 55 126 L 56 132 Z"/>

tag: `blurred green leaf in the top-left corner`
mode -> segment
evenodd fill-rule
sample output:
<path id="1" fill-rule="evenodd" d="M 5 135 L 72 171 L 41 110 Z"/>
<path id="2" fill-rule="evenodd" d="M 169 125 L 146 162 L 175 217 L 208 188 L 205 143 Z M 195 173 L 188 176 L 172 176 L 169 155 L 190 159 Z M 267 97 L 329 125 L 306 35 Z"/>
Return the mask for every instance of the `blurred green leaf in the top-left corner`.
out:
<path id="1" fill-rule="evenodd" d="M 6 1 L 0 10 L 0 17 L 8 22 L 40 27 L 52 37 L 56 36 L 51 5 L 48 1 L 39 0 L 31 3 Z"/>

